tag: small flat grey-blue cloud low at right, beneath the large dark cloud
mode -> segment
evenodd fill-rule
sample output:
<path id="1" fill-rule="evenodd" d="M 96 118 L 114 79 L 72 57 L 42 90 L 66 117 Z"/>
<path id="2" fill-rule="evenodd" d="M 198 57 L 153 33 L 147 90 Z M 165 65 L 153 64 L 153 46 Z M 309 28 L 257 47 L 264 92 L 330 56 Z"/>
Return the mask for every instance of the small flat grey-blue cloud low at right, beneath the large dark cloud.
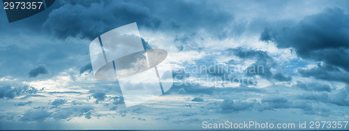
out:
<path id="1" fill-rule="evenodd" d="M 332 91 L 332 88 L 329 87 L 329 85 L 320 84 L 318 82 L 303 83 L 303 82 L 297 81 L 297 84 L 293 85 L 293 87 L 297 87 L 307 91 L 327 91 L 327 92 Z"/>

